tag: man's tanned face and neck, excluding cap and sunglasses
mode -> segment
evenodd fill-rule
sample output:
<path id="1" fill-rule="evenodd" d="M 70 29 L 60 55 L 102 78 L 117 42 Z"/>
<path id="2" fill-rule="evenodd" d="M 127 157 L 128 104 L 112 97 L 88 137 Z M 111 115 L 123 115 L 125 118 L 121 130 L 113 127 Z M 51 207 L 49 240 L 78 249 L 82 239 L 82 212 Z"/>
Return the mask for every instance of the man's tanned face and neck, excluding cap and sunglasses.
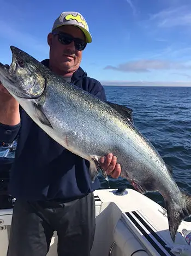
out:
<path id="1" fill-rule="evenodd" d="M 58 27 L 56 32 L 66 33 L 85 41 L 85 35 L 76 26 L 64 25 Z M 71 76 L 80 66 L 82 51 L 76 49 L 74 41 L 62 44 L 59 36 L 52 33 L 49 33 L 47 41 L 50 46 L 50 69 L 57 75 Z"/>

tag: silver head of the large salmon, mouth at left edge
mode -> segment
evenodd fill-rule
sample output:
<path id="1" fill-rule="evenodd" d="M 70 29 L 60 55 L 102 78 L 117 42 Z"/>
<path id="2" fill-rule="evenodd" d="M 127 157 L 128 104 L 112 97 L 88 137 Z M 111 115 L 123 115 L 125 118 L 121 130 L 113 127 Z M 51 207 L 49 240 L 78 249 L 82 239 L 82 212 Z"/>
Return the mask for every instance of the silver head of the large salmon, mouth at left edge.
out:
<path id="1" fill-rule="evenodd" d="M 10 67 L 0 63 L 0 81 L 15 98 L 37 99 L 44 92 L 46 79 L 40 64 L 31 55 L 14 46 Z"/>

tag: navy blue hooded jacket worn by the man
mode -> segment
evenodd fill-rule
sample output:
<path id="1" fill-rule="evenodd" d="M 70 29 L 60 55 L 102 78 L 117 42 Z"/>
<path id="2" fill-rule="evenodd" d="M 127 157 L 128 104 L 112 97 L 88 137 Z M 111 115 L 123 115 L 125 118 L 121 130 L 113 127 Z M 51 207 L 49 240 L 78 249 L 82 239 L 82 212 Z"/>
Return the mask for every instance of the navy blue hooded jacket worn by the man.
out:
<path id="1" fill-rule="evenodd" d="M 49 60 L 43 64 L 48 66 Z M 81 67 L 71 82 L 87 92 L 106 100 L 104 88 L 87 76 Z M 69 201 L 100 187 L 98 178 L 92 183 L 89 162 L 64 149 L 49 137 L 25 111 L 17 126 L 0 124 L 0 142 L 11 143 L 16 136 L 17 149 L 10 172 L 10 195 L 24 200 Z"/>

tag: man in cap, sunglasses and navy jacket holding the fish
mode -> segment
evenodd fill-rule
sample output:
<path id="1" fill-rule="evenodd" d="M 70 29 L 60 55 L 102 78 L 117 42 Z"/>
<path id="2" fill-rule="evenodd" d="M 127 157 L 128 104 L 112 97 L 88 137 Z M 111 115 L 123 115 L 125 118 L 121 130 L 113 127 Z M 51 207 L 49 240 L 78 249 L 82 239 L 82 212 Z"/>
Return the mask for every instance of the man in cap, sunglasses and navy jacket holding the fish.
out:
<path id="1" fill-rule="evenodd" d="M 64 12 L 47 36 L 50 59 L 43 64 L 83 90 L 106 100 L 101 84 L 80 67 L 82 51 L 92 37 L 80 13 Z M 13 210 L 8 256 L 44 256 L 53 231 L 58 234 L 58 255 L 88 256 L 94 238 L 95 209 L 89 163 L 64 149 L 41 130 L 1 85 L 0 141 L 18 135 L 10 174 L 10 194 L 17 198 Z M 120 175 L 116 156 L 102 157 L 103 169 Z"/>

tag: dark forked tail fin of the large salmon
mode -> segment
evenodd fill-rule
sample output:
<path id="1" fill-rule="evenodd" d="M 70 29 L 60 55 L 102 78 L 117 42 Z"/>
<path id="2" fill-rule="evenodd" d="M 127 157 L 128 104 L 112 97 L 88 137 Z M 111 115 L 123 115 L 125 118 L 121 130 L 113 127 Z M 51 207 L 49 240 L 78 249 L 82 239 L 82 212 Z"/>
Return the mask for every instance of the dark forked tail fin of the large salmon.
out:
<path id="1" fill-rule="evenodd" d="M 166 211 L 169 220 L 169 231 L 172 241 L 175 242 L 176 233 L 182 220 L 191 215 L 191 196 L 186 192 L 180 191 L 180 198 L 178 204 L 172 201 L 165 201 Z"/>

